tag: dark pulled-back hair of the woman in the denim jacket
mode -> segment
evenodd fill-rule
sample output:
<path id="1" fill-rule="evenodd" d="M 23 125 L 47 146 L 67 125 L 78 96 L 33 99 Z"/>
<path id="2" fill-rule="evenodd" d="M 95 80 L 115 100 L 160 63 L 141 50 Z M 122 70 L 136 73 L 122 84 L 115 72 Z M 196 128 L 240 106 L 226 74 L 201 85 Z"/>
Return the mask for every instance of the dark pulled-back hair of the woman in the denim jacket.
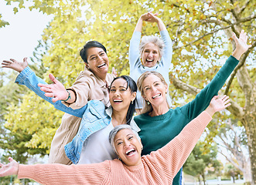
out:
<path id="1" fill-rule="evenodd" d="M 125 81 L 127 82 L 127 89 L 130 88 L 131 93 L 137 92 L 136 82 L 133 79 L 131 79 L 130 76 L 115 77 L 113 79 L 113 81 L 111 82 L 111 86 L 112 86 L 113 82 L 117 79 L 125 79 Z M 111 86 L 110 86 L 110 88 L 111 88 Z M 126 114 L 126 121 L 127 121 L 126 124 L 128 124 L 128 125 L 131 123 L 132 116 L 135 113 L 135 104 L 136 103 L 137 103 L 137 99 L 135 97 L 134 103 L 130 103 L 130 106 L 129 106 L 127 114 Z"/>

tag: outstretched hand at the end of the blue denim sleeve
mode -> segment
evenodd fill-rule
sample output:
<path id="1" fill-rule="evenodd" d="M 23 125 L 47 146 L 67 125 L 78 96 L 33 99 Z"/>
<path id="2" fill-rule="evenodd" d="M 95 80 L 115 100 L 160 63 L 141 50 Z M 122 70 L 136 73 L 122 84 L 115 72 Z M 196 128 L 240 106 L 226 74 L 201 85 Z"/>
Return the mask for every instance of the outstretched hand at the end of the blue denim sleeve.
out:
<path id="1" fill-rule="evenodd" d="M 29 64 L 26 57 L 23 59 L 23 62 L 18 62 L 15 59 L 2 61 L 2 68 L 13 69 L 16 72 L 22 72 L 22 70 L 25 69 L 27 66 L 29 66 Z"/>

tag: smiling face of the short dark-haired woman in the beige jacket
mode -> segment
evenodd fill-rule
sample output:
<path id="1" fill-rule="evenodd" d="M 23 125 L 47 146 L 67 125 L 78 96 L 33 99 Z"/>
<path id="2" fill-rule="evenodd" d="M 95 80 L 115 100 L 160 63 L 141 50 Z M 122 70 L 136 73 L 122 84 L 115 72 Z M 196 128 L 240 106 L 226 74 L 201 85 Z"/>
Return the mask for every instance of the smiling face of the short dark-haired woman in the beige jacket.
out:
<path id="1" fill-rule="evenodd" d="M 87 50 L 86 66 L 94 75 L 105 79 L 108 72 L 108 55 L 101 48 L 90 48 Z"/>

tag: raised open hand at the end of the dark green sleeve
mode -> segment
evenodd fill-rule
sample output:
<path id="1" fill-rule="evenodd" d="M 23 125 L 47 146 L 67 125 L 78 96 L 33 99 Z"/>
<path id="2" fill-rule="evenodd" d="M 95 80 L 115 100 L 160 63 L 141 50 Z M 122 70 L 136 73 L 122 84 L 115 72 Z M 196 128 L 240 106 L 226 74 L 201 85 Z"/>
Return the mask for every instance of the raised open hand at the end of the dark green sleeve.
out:
<path id="1" fill-rule="evenodd" d="M 247 45 L 248 36 L 246 35 L 246 32 L 244 32 L 244 29 L 243 29 L 239 35 L 239 39 L 234 34 L 234 32 L 232 33 L 232 38 L 234 39 L 234 42 L 236 43 L 236 49 L 234 50 L 232 55 L 236 59 L 240 59 L 241 55 L 243 55 L 244 52 L 246 52 L 247 49 L 249 49 L 251 47 L 251 45 Z"/>

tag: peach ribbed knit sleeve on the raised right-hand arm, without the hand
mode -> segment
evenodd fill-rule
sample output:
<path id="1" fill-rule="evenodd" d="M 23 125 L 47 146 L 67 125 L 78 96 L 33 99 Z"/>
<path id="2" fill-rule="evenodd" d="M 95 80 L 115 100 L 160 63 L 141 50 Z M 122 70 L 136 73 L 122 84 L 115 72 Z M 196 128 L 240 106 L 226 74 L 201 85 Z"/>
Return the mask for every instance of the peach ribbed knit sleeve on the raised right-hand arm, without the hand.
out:
<path id="1" fill-rule="evenodd" d="M 167 143 L 166 146 L 150 153 L 149 156 L 152 157 L 153 164 L 159 166 L 164 173 L 163 175 L 168 177 L 169 180 L 172 181 L 176 173 L 183 167 L 211 119 L 212 117 L 204 111 L 187 124 L 181 133 Z"/>

